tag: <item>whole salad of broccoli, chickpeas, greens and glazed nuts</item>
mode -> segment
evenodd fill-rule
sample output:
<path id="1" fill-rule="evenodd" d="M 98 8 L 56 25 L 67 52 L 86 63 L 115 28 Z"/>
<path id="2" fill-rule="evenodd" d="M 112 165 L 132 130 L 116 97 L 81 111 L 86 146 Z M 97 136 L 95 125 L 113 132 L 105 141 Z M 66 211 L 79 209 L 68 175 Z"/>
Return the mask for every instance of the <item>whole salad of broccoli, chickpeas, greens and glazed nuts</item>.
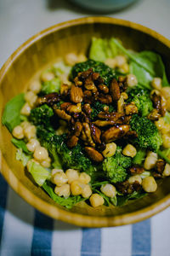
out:
<path id="1" fill-rule="evenodd" d="M 16 159 L 59 205 L 122 206 L 170 176 L 170 86 L 161 56 L 92 38 L 3 112 Z"/>

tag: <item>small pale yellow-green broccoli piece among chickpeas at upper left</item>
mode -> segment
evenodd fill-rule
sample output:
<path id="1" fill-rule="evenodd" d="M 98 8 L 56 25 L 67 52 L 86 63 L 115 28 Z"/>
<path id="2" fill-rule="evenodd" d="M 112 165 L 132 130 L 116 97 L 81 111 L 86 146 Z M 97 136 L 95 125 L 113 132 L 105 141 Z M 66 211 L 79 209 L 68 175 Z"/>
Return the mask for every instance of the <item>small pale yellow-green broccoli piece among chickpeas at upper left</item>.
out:
<path id="1" fill-rule="evenodd" d="M 53 92 L 59 92 L 61 81 L 59 78 L 54 78 L 50 81 L 46 81 L 42 83 L 42 94 L 49 94 Z"/>

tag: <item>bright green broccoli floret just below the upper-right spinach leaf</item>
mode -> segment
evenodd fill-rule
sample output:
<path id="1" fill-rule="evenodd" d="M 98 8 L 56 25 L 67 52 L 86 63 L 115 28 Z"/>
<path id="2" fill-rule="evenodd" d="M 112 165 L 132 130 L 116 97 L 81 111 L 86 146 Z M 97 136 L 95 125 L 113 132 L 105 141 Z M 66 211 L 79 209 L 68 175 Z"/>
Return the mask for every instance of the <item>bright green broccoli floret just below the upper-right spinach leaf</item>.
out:
<path id="1" fill-rule="evenodd" d="M 127 94 L 127 102 L 134 102 L 141 116 L 147 116 L 153 109 L 149 90 L 135 86 L 128 90 Z"/>

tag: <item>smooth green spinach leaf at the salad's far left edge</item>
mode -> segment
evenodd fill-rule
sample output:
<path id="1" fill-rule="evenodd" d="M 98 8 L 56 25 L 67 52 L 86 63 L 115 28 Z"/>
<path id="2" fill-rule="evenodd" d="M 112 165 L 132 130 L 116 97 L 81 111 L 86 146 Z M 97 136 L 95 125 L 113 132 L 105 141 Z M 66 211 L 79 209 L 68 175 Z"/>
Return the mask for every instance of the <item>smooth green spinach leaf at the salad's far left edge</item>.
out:
<path id="1" fill-rule="evenodd" d="M 12 132 L 16 125 L 20 125 L 20 110 L 25 103 L 24 93 L 12 98 L 5 106 L 2 123 Z"/>

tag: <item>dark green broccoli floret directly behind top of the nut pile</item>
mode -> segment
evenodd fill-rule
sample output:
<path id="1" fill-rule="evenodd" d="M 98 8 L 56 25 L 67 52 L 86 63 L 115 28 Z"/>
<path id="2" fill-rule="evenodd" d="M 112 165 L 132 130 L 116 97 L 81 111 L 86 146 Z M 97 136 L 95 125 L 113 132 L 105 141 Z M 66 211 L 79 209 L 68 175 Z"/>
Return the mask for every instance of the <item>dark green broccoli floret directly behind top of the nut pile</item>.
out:
<path id="1" fill-rule="evenodd" d="M 71 78 L 74 79 L 75 77 L 77 77 L 77 74 L 79 72 L 87 71 L 88 68 L 93 68 L 94 72 L 99 73 L 102 79 L 104 79 L 104 84 L 108 86 L 111 83 L 111 80 L 113 78 L 116 78 L 116 74 L 111 67 L 105 65 L 105 63 L 103 62 L 93 60 L 80 62 L 77 63 L 74 67 L 72 67 Z"/>

